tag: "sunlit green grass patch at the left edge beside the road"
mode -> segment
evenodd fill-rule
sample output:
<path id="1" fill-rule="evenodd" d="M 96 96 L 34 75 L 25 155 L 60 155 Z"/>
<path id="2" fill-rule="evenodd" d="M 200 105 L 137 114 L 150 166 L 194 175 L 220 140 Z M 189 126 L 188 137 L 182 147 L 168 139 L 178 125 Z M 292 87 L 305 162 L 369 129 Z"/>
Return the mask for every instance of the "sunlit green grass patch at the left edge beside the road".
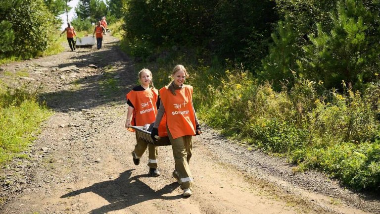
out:
<path id="1" fill-rule="evenodd" d="M 51 111 L 38 102 L 38 90 L 0 84 L 0 164 L 21 156 L 50 115 Z"/>

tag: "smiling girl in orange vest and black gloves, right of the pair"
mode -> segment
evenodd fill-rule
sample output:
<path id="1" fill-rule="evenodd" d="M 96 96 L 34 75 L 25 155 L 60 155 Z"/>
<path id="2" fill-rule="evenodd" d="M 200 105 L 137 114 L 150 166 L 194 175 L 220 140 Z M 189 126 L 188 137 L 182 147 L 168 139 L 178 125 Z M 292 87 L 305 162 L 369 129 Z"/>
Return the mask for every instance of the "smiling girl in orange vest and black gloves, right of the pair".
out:
<path id="1" fill-rule="evenodd" d="M 173 80 L 159 90 L 161 103 L 151 132 L 154 140 L 154 135 L 158 133 L 158 124 L 166 115 L 167 132 L 176 162 L 173 177 L 181 184 L 184 196 L 192 194 L 193 178 L 189 167 L 192 150 L 191 138 L 193 135 L 201 133 L 192 104 L 192 86 L 184 84 L 187 77 L 189 74 L 185 67 L 177 65 L 173 69 Z"/>

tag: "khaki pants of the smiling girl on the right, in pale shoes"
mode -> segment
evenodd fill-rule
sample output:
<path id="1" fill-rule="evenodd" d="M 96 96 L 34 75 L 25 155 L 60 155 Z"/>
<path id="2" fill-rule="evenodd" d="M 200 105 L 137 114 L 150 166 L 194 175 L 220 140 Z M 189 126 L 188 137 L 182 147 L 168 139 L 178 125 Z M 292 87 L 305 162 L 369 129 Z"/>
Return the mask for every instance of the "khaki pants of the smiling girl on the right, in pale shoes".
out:
<path id="1" fill-rule="evenodd" d="M 179 183 L 181 184 L 181 189 L 191 188 L 193 179 L 189 167 L 189 162 L 192 150 L 192 136 L 187 135 L 173 139 L 169 129 L 167 130 L 169 140 L 172 144 L 174 161 L 176 163 L 173 176 L 179 180 Z"/>

